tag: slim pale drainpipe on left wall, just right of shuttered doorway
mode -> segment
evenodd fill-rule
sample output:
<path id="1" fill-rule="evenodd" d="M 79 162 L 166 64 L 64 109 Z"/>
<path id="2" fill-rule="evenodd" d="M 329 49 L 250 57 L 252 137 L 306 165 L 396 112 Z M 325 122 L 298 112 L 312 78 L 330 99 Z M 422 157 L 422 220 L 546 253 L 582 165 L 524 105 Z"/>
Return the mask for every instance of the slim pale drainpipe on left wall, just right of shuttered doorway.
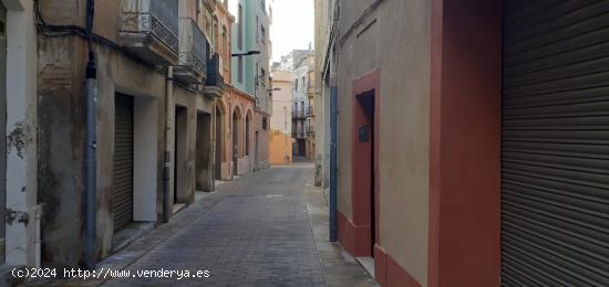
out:
<path id="1" fill-rule="evenodd" d="M 165 83 L 165 164 L 163 167 L 163 223 L 169 222 L 171 205 L 169 205 L 169 179 L 172 174 L 172 149 L 169 148 L 171 142 L 171 130 L 172 121 L 171 115 L 173 113 L 173 91 L 174 91 L 174 67 L 167 67 L 167 79 Z"/>

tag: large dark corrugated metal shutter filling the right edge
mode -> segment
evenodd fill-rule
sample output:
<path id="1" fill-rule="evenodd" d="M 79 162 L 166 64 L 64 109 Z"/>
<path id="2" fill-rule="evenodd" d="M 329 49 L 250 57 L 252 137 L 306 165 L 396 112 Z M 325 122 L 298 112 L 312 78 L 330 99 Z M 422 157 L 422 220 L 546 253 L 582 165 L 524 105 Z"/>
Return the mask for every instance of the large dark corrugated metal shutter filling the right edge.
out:
<path id="1" fill-rule="evenodd" d="M 502 281 L 609 286 L 609 1 L 505 1 Z"/>

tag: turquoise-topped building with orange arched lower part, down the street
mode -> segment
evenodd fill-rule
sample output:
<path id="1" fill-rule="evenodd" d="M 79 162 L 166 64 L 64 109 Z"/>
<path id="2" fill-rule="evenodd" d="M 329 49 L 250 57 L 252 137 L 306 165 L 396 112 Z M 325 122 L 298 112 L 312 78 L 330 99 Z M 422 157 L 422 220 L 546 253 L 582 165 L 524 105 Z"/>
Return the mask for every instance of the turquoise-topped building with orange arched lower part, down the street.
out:
<path id="1" fill-rule="evenodd" d="M 238 98 L 250 100 L 252 107 L 228 104 L 230 115 L 231 166 L 234 174 L 267 168 L 269 162 L 270 52 L 269 38 L 272 0 L 238 0 L 229 3 L 236 17 L 233 24 L 233 54 L 258 51 L 259 54 L 234 56 L 231 84 Z M 246 107 L 247 106 L 247 107 Z"/>

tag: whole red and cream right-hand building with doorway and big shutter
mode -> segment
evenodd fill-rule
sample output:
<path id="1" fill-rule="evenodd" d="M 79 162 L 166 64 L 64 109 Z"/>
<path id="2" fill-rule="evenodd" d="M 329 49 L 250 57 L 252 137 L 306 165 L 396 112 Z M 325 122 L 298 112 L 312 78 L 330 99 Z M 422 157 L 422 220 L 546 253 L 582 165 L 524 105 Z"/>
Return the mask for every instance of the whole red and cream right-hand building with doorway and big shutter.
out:
<path id="1" fill-rule="evenodd" d="M 316 7 L 338 240 L 381 286 L 609 283 L 607 3 Z"/>

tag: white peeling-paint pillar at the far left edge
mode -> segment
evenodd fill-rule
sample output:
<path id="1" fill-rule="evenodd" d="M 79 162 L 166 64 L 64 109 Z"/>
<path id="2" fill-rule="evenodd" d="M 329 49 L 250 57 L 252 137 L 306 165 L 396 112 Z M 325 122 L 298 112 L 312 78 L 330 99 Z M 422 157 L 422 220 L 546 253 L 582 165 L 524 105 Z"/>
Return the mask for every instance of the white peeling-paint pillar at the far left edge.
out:
<path id="1" fill-rule="evenodd" d="M 34 19 L 32 1 L 0 2 L 0 279 L 40 266 Z"/>

